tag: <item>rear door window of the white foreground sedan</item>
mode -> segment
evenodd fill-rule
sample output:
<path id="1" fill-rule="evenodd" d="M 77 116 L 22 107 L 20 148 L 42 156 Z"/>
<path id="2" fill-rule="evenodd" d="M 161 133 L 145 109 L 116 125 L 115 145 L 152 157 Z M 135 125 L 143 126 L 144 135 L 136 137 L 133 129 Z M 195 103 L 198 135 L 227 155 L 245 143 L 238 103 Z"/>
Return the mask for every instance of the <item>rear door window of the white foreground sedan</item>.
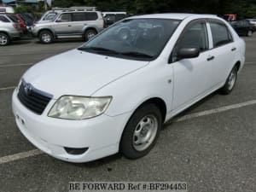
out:
<path id="1" fill-rule="evenodd" d="M 223 23 L 210 22 L 213 47 L 229 44 L 233 41 L 229 29 Z"/>

